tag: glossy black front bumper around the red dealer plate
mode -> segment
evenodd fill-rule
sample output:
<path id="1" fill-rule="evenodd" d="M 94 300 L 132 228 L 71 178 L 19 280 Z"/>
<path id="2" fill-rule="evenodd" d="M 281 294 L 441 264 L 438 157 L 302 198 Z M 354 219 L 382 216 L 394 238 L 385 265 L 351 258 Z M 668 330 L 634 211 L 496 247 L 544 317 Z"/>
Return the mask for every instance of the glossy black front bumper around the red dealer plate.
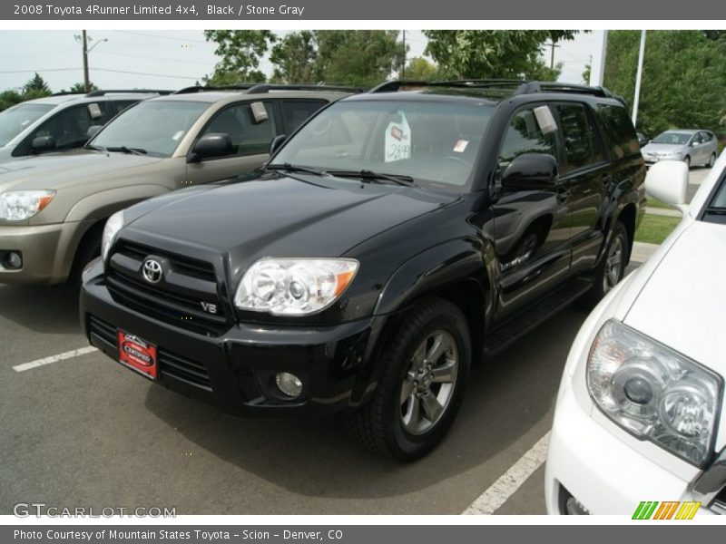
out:
<path id="1" fill-rule="evenodd" d="M 92 273 L 87 269 L 84 274 L 80 300 L 90 343 L 118 361 L 118 329 L 141 336 L 157 346 L 159 384 L 216 404 L 223 412 L 317 415 L 354 406 L 370 391 L 370 378 L 363 376 L 368 375 L 364 369 L 377 318 L 315 328 L 237 324 L 218 336 L 202 335 L 119 304 L 103 276 L 89 277 Z M 289 400 L 277 390 L 278 372 L 299 376 L 303 391 L 298 399 Z"/>

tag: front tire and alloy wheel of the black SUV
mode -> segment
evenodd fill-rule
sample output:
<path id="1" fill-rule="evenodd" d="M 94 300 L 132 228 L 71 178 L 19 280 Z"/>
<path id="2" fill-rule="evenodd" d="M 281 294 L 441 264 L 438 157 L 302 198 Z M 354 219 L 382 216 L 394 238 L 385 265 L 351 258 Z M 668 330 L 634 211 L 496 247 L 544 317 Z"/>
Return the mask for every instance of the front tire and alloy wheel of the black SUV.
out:
<path id="1" fill-rule="evenodd" d="M 419 303 L 378 364 L 378 386 L 368 403 L 349 414 L 348 426 L 370 450 L 415 461 L 441 442 L 464 399 L 471 364 L 466 317 L 441 298 Z M 419 364 L 425 372 L 418 372 Z"/>

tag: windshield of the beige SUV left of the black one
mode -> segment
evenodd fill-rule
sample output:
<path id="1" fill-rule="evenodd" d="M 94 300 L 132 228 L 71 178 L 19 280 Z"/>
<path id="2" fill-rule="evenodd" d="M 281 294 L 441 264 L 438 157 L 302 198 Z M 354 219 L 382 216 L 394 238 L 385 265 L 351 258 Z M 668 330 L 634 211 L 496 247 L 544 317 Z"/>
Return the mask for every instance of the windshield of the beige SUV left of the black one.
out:
<path id="1" fill-rule="evenodd" d="M 193 122 L 209 105 L 209 102 L 178 100 L 139 102 L 111 121 L 88 146 L 171 157 Z"/>

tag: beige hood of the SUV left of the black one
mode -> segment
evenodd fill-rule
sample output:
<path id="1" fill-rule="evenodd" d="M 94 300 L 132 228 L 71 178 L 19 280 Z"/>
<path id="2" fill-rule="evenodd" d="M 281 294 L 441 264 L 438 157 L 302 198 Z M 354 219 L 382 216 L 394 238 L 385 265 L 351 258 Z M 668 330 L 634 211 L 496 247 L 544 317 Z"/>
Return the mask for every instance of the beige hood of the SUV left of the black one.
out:
<path id="1" fill-rule="evenodd" d="M 64 189 L 85 185 L 92 178 L 107 179 L 159 162 L 158 157 L 101 151 L 72 151 L 0 163 L 0 192 L 10 189 Z M 116 177 L 116 176 L 114 176 Z"/>

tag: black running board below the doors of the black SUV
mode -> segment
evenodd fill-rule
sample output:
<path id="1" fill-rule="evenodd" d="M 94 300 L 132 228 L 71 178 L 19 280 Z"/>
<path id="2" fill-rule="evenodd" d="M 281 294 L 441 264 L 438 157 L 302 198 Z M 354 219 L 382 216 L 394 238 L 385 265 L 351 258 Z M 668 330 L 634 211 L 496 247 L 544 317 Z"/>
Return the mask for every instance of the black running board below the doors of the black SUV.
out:
<path id="1" fill-rule="evenodd" d="M 484 343 L 485 359 L 501 353 L 537 325 L 542 324 L 545 320 L 572 304 L 574 300 L 583 296 L 592 285 L 592 280 L 584 277 L 571 279 L 563 287 L 545 296 L 544 299 L 537 302 L 529 310 L 508 319 L 505 324 L 486 335 Z"/>

